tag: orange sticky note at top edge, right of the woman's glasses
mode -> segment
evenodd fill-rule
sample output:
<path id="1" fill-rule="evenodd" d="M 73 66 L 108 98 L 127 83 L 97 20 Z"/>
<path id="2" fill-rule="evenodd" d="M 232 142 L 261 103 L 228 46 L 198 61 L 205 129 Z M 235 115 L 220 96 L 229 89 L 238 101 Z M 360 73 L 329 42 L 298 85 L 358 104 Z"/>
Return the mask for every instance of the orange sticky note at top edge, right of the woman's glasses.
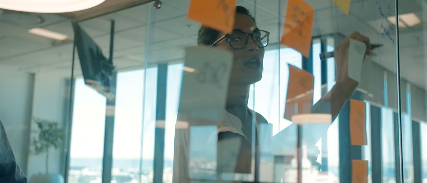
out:
<path id="1" fill-rule="evenodd" d="M 289 0 L 281 44 L 310 55 L 314 10 L 304 0 Z"/>

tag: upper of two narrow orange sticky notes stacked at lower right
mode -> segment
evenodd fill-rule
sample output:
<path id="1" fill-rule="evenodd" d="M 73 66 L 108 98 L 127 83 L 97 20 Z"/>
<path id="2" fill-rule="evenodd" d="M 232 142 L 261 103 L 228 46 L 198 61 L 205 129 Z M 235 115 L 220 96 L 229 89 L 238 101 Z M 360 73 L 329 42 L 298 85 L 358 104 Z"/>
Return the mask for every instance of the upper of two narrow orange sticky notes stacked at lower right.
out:
<path id="1" fill-rule="evenodd" d="M 365 102 L 350 99 L 351 145 L 366 145 Z"/>

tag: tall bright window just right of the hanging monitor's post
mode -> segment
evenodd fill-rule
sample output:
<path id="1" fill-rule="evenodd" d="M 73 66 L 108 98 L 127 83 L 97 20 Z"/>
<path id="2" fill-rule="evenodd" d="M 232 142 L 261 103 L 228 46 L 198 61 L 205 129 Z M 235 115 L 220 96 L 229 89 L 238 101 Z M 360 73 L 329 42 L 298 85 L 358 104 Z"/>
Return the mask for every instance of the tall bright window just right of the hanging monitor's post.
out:
<path id="1" fill-rule="evenodd" d="M 138 181 L 140 168 L 144 70 L 117 75 L 111 182 Z"/>

